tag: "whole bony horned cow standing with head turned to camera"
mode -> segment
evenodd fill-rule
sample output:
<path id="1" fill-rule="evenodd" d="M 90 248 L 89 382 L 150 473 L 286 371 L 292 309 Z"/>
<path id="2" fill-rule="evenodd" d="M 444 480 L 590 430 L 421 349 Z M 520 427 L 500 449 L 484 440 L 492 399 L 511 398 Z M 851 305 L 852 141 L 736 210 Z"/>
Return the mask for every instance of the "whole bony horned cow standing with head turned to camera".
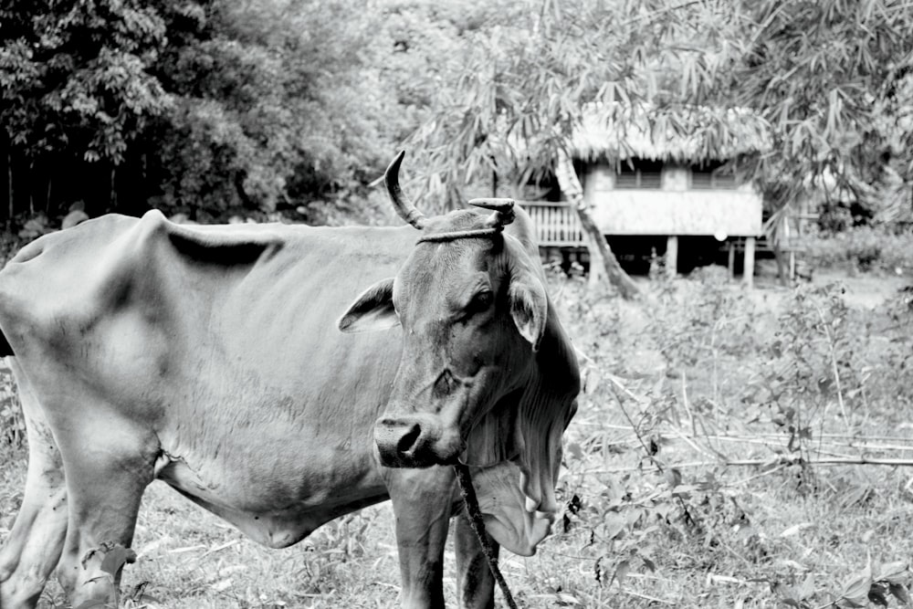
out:
<path id="1" fill-rule="evenodd" d="M 42 236 L 6 265 L 0 352 L 28 469 L 2 609 L 34 607 L 55 569 L 73 606 L 116 605 L 102 563 L 130 548 L 154 479 L 273 548 L 391 499 L 409 608 L 444 606 L 456 516 L 457 601 L 493 605 L 450 466 L 469 467 L 488 541 L 532 554 L 580 375 L 529 216 L 510 201 L 425 216 L 402 159 L 385 181 L 411 226 L 153 210 Z"/>

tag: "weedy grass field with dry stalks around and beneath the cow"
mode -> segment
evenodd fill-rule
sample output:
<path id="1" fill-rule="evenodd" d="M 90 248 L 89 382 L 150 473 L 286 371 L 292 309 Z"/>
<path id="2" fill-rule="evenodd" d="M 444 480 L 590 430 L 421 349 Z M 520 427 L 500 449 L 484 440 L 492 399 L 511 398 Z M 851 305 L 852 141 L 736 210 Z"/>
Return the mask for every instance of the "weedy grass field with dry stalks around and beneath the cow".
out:
<path id="1" fill-rule="evenodd" d="M 520 606 L 908 604 L 908 282 L 834 275 L 746 291 L 717 270 L 645 281 L 634 303 L 552 279 L 586 386 L 565 436 L 563 517 L 536 556 L 502 556 Z M 0 443 L 0 458 L 2 540 L 25 452 Z M 156 483 L 134 548 L 126 606 L 396 602 L 385 504 L 270 551 Z M 455 604 L 450 572 L 446 591 Z M 40 606 L 65 606 L 56 584 Z"/>

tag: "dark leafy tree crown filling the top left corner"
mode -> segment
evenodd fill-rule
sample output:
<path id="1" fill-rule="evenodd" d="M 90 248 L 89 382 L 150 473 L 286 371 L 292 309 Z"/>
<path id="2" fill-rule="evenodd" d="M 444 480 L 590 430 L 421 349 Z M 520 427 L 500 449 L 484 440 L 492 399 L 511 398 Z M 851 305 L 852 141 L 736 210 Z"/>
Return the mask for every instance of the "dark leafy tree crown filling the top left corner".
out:
<path id="1" fill-rule="evenodd" d="M 166 34 L 152 6 L 12 2 L 0 22 L 0 121 L 27 156 L 119 163 L 171 105 L 149 73 Z"/>

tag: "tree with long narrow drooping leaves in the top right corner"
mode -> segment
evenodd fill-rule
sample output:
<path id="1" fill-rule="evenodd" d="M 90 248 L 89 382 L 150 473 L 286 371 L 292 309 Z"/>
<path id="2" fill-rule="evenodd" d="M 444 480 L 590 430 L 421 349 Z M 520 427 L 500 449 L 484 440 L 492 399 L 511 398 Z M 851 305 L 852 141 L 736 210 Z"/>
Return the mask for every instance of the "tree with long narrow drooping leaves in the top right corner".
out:
<path id="1" fill-rule="evenodd" d="M 742 33 L 729 38 L 725 69 L 708 75 L 707 98 L 770 121 L 773 153 L 755 174 L 775 211 L 788 212 L 824 175 L 862 200 L 889 163 L 913 178 L 906 3 L 764 0 L 744 3 L 734 18 Z"/>

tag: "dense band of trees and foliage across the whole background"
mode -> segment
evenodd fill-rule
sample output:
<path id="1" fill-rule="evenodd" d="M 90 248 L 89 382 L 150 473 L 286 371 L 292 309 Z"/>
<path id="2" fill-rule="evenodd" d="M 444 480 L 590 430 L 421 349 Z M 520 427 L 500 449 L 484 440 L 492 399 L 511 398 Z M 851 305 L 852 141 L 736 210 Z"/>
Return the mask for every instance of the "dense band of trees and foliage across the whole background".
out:
<path id="1" fill-rule="evenodd" d="M 592 104 L 648 104 L 656 132 L 748 109 L 771 151 L 740 171 L 771 211 L 826 183 L 893 217 L 911 49 L 893 0 L 8 0 L 0 217 L 384 222 L 372 185 L 396 150 L 426 206 L 459 205 L 467 184 L 548 180 Z"/>

